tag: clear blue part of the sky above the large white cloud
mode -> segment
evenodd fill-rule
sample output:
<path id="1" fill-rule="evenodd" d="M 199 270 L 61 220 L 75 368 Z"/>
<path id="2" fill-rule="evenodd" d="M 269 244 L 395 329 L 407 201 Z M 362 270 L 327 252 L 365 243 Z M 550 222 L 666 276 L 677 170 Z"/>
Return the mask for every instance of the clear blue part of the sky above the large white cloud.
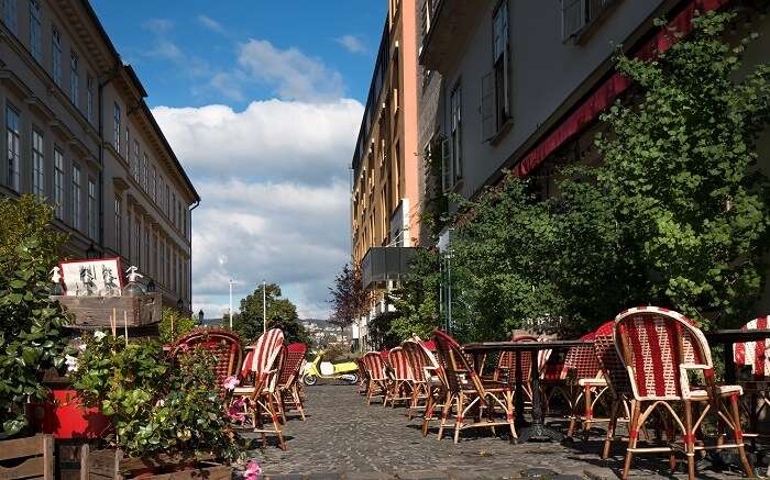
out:
<path id="1" fill-rule="evenodd" d="M 207 74 L 231 68 L 238 45 L 251 38 L 319 58 L 341 74 L 346 97 L 365 99 L 386 14 L 385 0 L 134 0 L 130 9 L 92 0 L 92 5 L 123 60 L 139 72 L 151 105 L 239 109 L 251 99 L 274 97 L 275 90 L 255 82 L 238 100 L 200 87 Z M 174 58 L 175 48 L 187 68 Z"/>

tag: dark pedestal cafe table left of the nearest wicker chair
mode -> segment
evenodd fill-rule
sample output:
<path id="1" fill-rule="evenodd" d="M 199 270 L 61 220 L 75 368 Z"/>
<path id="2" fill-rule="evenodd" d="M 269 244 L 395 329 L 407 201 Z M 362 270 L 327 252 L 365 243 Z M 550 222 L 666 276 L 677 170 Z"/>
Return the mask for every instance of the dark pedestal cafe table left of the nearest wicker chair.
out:
<path id="1" fill-rule="evenodd" d="M 525 443 L 530 439 L 554 439 L 561 442 L 564 435 L 546 426 L 540 399 L 540 371 L 538 369 L 537 353 L 540 350 L 558 350 L 581 345 L 593 345 L 593 342 L 582 341 L 549 341 L 549 342 L 480 342 L 463 345 L 463 350 L 474 357 L 474 368 L 479 373 L 483 367 L 483 358 L 491 351 L 513 351 L 516 361 L 516 425 L 518 439 L 516 443 Z M 532 422 L 526 425 L 524 418 L 524 386 L 521 380 L 521 353 L 531 355 L 531 382 L 532 382 Z M 519 427 L 519 425 L 521 425 Z"/>

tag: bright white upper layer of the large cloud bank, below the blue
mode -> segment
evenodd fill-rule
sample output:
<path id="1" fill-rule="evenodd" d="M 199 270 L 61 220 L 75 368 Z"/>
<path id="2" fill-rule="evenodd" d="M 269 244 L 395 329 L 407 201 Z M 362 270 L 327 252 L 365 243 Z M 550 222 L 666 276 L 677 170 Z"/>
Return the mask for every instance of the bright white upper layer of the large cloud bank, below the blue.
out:
<path id="1" fill-rule="evenodd" d="M 363 105 L 264 100 L 240 112 L 207 105 L 153 113 L 195 177 L 320 183 L 346 178 Z"/>

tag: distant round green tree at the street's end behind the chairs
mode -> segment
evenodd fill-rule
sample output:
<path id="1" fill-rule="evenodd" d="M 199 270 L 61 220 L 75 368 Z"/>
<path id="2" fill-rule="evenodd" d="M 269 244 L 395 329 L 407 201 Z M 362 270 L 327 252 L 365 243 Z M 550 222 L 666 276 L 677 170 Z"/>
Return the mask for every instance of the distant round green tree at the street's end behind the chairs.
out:
<path id="1" fill-rule="evenodd" d="M 283 299 L 280 287 L 267 283 L 264 304 L 267 305 L 267 328 L 284 331 L 284 343 L 299 342 L 310 345 L 310 337 L 299 323 L 297 308 L 288 299 Z M 241 300 L 241 312 L 233 316 L 233 330 L 244 342 L 252 343 L 264 330 L 263 324 L 263 286 L 260 284 L 253 293 Z"/>

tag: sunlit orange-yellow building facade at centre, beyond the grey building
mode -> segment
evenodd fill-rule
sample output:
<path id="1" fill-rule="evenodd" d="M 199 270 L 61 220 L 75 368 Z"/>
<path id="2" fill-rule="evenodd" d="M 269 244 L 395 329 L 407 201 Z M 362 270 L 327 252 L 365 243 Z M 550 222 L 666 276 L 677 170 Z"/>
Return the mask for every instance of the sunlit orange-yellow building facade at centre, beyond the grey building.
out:
<path id="1" fill-rule="evenodd" d="M 417 15 L 415 0 L 389 0 L 388 14 L 353 153 L 351 255 L 364 269 L 373 247 L 420 244 L 420 176 L 417 131 Z M 353 336 L 366 343 L 367 319 L 387 309 L 377 291 Z"/>

